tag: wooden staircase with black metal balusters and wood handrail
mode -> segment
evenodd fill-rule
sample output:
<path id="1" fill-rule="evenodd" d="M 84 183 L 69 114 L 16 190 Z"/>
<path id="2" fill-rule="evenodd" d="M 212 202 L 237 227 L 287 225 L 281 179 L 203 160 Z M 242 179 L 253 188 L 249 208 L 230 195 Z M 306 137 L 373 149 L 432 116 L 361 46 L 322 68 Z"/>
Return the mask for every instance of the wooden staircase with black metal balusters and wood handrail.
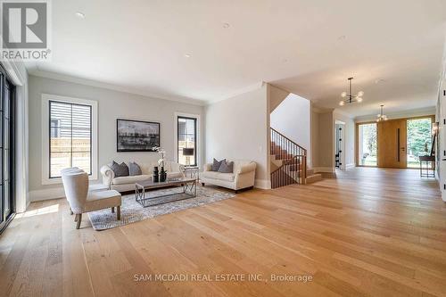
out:
<path id="1" fill-rule="evenodd" d="M 271 188 L 310 184 L 322 179 L 307 168 L 307 150 L 271 128 Z"/>

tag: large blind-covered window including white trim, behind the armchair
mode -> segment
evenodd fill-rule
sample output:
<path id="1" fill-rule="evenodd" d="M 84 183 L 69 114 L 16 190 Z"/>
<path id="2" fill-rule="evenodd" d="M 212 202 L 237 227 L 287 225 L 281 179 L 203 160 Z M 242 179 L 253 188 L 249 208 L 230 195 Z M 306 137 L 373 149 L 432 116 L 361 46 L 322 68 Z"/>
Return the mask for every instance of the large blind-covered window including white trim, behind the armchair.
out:
<path id="1" fill-rule="evenodd" d="M 61 183 L 61 170 L 78 167 L 97 178 L 97 103 L 42 95 L 42 184 Z"/>

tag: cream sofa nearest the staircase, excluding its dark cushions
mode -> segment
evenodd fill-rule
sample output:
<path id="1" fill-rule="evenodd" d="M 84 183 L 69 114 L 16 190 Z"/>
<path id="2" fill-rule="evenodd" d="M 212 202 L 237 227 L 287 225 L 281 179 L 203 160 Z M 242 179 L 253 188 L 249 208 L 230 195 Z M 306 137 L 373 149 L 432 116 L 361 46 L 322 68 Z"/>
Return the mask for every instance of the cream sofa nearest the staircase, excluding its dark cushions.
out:
<path id="1" fill-rule="evenodd" d="M 232 173 L 221 173 L 211 171 L 212 164 L 204 164 L 203 171 L 200 174 L 200 181 L 202 186 L 205 186 L 205 184 L 223 186 L 233 189 L 235 192 L 241 189 L 252 188 L 254 186 L 256 165 L 254 161 L 236 160 L 234 161 L 234 171 Z"/>

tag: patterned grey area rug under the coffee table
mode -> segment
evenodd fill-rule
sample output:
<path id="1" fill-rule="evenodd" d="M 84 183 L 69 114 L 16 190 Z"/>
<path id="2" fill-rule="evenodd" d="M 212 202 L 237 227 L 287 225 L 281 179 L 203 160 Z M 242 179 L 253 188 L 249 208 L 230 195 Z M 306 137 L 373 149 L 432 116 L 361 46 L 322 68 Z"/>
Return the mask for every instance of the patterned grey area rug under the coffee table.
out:
<path id="1" fill-rule="evenodd" d="M 145 195 L 146 197 L 153 197 L 155 195 L 178 194 L 181 192 L 182 187 L 177 187 L 158 190 L 156 192 L 146 192 Z M 235 194 L 219 191 L 209 187 L 198 186 L 197 196 L 194 198 L 169 202 L 178 199 L 178 196 L 165 197 L 161 199 L 165 199 L 168 201 L 167 203 L 144 208 L 141 206 L 141 204 L 136 202 L 135 194 L 128 194 L 122 196 L 120 220 L 116 219 L 116 213 L 111 213 L 111 209 L 88 212 L 88 217 L 90 218 L 93 228 L 100 231 L 124 226 L 144 219 L 151 219 L 179 210 L 186 210 L 212 202 L 219 202 L 232 197 L 235 197 Z"/>

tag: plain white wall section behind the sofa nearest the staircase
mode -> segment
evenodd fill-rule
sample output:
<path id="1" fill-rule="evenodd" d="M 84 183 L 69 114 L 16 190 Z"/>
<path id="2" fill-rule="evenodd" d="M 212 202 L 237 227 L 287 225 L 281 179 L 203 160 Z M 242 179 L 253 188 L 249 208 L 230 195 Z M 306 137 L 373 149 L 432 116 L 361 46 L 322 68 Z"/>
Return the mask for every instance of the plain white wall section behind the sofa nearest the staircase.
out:
<path id="1" fill-rule="evenodd" d="M 270 187 L 268 173 L 268 86 L 236 95 L 206 108 L 206 161 L 257 163 L 256 186 Z"/>

